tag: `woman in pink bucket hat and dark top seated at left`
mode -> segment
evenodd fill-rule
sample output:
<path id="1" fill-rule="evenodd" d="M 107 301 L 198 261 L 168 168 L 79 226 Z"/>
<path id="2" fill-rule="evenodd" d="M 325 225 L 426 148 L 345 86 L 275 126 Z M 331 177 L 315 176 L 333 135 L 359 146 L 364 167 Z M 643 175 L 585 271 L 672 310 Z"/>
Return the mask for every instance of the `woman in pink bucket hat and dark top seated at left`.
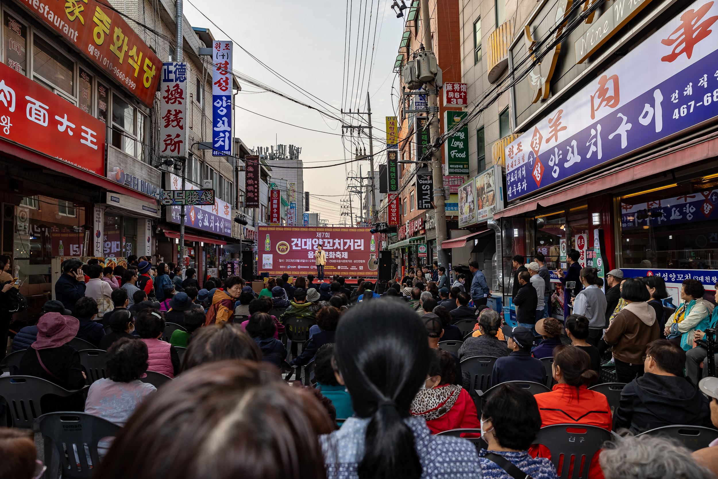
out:
<path id="1" fill-rule="evenodd" d="M 20 360 L 21 376 L 35 376 L 63 389 L 72 391 L 85 386 L 85 373 L 80 355 L 70 342 L 78 333 L 80 322 L 59 312 L 47 312 L 37 322 L 37 340 Z M 46 404 L 47 403 L 47 404 Z M 40 405 L 43 412 L 83 411 L 85 400 L 81 394 L 66 398 L 47 395 Z"/>

